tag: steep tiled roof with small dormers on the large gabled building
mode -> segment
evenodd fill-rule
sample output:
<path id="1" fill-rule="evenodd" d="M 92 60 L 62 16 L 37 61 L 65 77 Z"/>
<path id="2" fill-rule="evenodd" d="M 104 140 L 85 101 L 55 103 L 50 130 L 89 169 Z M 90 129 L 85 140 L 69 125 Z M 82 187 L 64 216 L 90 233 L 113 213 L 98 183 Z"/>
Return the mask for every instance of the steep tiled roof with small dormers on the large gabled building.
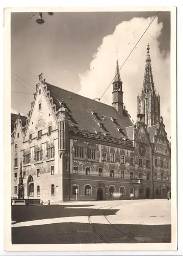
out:
<path id="1" fill-rule="evenodd" d="M 46 85 L 57 110 L 61 108 L 59 101 L 64 101 L 71 115 L 70 123 L 79 130 L 105 132 L 114 138 L 127 137 L 126 127 L 133 123 L 125 110 L 121 115 L 113 106 L 66 91 L 47 82 Z"/>

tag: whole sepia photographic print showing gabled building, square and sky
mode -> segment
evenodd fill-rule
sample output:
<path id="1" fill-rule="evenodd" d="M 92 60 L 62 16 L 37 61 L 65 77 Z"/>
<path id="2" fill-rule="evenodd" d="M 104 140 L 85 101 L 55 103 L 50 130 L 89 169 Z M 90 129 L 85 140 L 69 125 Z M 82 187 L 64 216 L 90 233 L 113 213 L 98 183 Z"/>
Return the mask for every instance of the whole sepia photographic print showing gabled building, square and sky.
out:
<path id="1" fill-rule="evenodd" d="M 176 247 L 176 11 L 159 9 L 10 10 L 12 245 Z"/>

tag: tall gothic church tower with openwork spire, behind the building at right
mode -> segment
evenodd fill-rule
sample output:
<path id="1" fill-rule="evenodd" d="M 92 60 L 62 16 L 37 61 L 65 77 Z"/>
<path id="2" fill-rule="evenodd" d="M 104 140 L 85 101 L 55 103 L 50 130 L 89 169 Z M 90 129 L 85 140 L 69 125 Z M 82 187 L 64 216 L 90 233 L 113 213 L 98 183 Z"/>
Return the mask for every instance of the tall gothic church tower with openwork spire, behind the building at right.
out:
<path id="1" fill-rule="evenodd" d="M 144 122 L 148 126 L 160 121 L 160 95 L 156 94 L 152 76 L 151 59 L 147 45 L 147 56 L 145 60 L 144 81 L 141 95 L 137 96 L 137 115 L 144 114 Z"/>

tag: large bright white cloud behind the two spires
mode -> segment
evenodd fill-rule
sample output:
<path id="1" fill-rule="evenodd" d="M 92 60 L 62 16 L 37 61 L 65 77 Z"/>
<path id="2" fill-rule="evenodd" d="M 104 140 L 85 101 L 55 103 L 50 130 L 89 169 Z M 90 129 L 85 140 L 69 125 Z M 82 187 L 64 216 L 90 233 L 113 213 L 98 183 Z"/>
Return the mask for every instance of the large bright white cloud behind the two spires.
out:
<path id="1" fill-rule="evenodd" d="M 133 18 L 129 22 L 122 22 L 113 34 L 103 38 L 102 44 L 93 55 L 90 69 L 85 74 L 80 74 L 79 94 L 92 99 L 101 97 L 115 75 L 116 49 L 118 49 L 118 62 L 121 67 L 152 19 L 153 17 Z M 149 43 L 154 84 L 156 91 L 160 93 L 161 115 L 164 118 L 168 137 L 170 137 L 170 53 L 160 52 L 159 37 L 162 28 L 163 24 L 158 23 L 156 17 L 122 67 L 120 75 L 123 81 L 124 105 L 128 113 L 136 120 L 137 94 L 140 94 L 142 89 L 146 48 Z M 112 103 L 112 84 L 101 102 L 109 105 Z"/>

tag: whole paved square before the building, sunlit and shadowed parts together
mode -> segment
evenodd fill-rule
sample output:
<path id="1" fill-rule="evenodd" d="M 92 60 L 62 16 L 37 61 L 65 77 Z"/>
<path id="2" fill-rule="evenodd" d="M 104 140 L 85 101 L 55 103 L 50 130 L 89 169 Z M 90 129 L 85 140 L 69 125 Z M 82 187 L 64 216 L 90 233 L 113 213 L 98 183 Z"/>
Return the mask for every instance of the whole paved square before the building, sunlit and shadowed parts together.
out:
<path id="1" fill-rule="evenodd" d="M 171 242 L 165 199 L 13 206 L 12 219 L 13 244 Z"/>

